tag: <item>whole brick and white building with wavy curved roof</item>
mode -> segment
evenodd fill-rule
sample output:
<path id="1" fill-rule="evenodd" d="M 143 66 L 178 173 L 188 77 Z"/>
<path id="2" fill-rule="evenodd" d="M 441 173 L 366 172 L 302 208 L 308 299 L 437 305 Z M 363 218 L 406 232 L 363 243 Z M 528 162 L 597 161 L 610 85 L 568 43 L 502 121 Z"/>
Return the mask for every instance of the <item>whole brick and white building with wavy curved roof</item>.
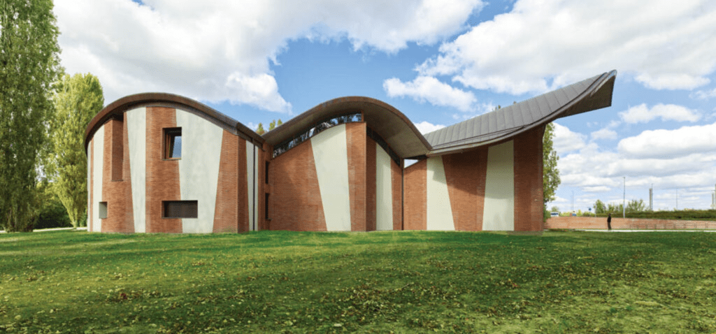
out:
<path id="1" fill-rule="evenodd" d="M 368 97 L 332 99 L 263 136 L 185 97 L 123 97 L 85 132 L 88 230 L 541 230 L 544 127 L 609 107 L 615 76 L 425 136 Z"/>

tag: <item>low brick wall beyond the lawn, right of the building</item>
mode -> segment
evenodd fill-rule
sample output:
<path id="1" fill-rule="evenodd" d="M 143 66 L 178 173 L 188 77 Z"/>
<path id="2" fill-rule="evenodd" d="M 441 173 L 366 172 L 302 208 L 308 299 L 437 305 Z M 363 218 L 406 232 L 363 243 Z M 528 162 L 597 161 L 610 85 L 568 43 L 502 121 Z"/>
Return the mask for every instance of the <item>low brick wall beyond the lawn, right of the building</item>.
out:
<path id="1" fill-rule="evenodd" d="M 544 228 L 559 229 L 604 229 L 606 217 L 550 217 Z M 712 220 L 658 220 L 638 218 L 611 217 L 611 228 L 614 230 L 692 230 L 716 229 L 716 221 Z"/>

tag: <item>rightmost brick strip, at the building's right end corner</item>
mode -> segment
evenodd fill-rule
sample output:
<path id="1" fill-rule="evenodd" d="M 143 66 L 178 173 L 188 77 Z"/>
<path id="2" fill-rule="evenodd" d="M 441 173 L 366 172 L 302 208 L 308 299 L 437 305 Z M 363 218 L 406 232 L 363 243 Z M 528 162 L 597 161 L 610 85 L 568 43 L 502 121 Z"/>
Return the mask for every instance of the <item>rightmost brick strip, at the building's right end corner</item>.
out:
<path id="1" fill-rule="evenodd" d="M 542 230 L 543 134 L 544 127 L 537 127 L 514 139 L 516 231 Z"/>

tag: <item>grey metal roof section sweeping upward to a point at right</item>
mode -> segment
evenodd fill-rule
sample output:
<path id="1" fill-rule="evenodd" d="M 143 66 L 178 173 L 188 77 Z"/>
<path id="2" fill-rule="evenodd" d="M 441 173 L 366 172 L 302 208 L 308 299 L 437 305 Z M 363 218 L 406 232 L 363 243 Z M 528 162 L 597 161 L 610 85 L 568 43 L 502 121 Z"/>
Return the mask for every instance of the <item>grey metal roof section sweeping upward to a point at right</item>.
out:
<path id="1" fill-rule="evenodd" d="M 561 117 L 609 107 L 615 79 L 616 71 L 606 72 L 425 134 L 432 146 L 427 155 L 502 142 Z"/>

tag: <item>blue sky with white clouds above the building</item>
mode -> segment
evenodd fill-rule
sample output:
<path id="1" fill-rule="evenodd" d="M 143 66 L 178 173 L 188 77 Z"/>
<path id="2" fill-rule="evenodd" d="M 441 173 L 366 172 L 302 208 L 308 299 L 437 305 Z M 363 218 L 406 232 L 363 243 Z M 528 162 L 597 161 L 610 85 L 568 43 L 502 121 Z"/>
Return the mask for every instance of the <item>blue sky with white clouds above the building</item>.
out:
<path id="1" fill-rule="evenodd" d="M 616 69 L 609 108 L 557 119 L 548 207 L 707 209 L 716 1 L 55 0 L 62 66 L 105 105 L 168 92 L 252 129 L 366 96 L 427 133 Z M 574 204 L 573 204 L 574 203 Z"/>

